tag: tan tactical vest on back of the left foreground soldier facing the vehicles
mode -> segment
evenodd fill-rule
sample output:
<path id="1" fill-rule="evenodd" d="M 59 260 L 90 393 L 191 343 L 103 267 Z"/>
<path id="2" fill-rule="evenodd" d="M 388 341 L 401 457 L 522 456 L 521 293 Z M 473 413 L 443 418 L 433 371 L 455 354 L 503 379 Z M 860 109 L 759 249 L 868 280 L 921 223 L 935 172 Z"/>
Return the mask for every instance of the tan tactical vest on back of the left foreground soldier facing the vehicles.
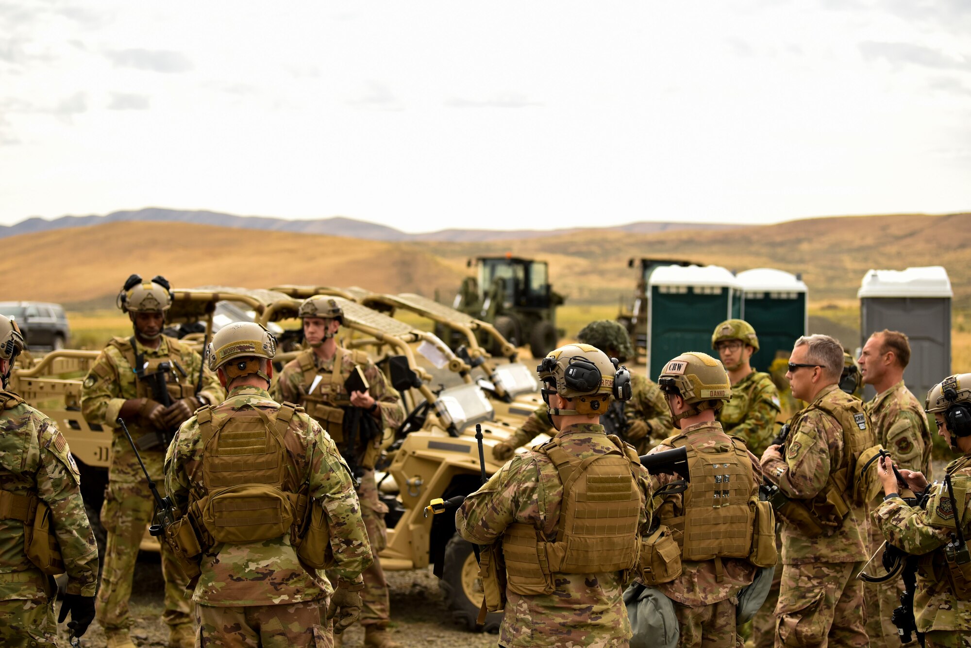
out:
<path id="1" fill-rule="evenodd" d="M 292 483 L 284 441 L 295 410 L 288 403 L 269 413 L 246 407 L 216 425 L 212 407 L 196 410 L 204 492 L 193 489 L 188 509 L 196 529 L 205 530 L 201 544 L 299 536 L 307 485 Z"/>

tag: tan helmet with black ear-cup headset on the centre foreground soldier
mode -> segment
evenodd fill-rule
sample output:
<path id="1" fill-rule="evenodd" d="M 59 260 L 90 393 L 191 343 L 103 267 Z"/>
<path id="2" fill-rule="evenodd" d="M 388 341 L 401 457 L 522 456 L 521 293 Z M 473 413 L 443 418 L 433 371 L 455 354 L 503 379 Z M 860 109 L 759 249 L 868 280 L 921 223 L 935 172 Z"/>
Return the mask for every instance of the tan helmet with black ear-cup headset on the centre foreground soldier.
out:
<path id="1" fill-rule="evenodd" d="M 575 400 L 574 409 L 551 407 L 552 415 L 600 414 L 607 410 L 611 396 L 630 400 L 630 373 L 590 344 L 566 344 L 552 350 L 536 373 L 545 385 L 542 393 L 547 405 L 551 394 Z"/>

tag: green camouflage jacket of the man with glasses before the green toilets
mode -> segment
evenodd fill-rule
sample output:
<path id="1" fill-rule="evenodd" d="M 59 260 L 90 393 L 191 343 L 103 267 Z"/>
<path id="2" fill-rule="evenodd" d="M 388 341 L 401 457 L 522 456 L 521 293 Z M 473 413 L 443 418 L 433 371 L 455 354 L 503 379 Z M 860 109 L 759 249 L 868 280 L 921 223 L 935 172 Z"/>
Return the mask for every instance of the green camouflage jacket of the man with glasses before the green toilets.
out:
<path id="1" fill-rule="evenodd" d="M 749 450 L 761 457 L 776 436 L 780 407 L 772 376 L 753 372 L 731 386 L 731 400 L 721 406 L 719 422 L 726 433 L 745 439 Z"/>

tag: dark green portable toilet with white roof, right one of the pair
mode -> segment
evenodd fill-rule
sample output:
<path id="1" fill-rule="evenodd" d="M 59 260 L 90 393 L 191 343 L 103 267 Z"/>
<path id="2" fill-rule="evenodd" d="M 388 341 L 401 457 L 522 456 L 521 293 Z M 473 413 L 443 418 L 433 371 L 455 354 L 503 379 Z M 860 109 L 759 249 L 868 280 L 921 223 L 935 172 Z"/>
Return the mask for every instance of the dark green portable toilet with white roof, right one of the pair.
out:
<path id="1" fill-rule="evenodd" d="M 774 268 L 747 270 L 735 278 L 742 284 L 742 319 L 758 336 L 753 369 L 767 372 L 777 352 L 788 357 L 792 343 L 806 335 L 809 289 L 798 276 Z"/>

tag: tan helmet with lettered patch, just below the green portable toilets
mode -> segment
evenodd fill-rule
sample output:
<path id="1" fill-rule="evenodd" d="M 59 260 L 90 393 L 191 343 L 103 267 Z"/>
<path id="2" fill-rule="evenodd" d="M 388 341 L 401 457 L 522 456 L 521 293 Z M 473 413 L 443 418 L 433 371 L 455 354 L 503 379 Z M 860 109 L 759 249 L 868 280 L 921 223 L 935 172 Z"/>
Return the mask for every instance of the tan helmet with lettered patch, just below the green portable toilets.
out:
<path id="1" fill-rule="evenodd" d="M 728 321 L 741 322 L 742 320 Z M 742 323 L 745 324 L 745 322 Z M 739 339 L 731 338 L 731 340 Z M 680 414 L 671 412 L 674 424 L 679 430 L 680 420 L 686 416 L 696 416 L 705 409 L 717 411 L 725 401 L 731 399 L 731 381 L 720 360 L 698 351 L 688 351 L 670 360 L 658 376 L 657 384 L 664 393 L 681 396 L 686 405 L 694 405 Z M 670 407 L 670 402 L 668 406 Z"/>

